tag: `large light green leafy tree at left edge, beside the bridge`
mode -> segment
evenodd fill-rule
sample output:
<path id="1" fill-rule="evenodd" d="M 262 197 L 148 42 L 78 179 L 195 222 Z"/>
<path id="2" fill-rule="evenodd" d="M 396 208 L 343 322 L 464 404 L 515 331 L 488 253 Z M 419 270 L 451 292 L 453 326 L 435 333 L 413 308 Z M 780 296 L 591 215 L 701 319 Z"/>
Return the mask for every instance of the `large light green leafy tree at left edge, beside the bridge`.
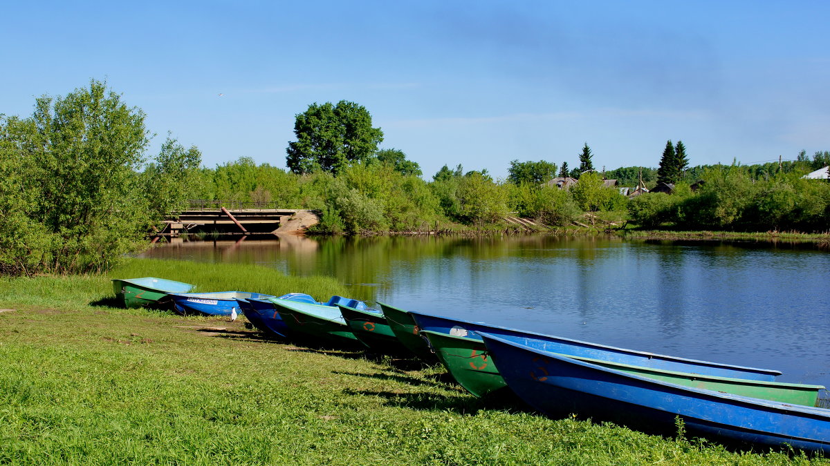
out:
<path id="1" fill-rule="evenodd" d="M 140 109 L 91 80 L 66 97 L 38 98 L 32 117 L 0 127 L 2 171 L 11 177 L 0 197 L 9 197 L 3 213 L 12 219 L 0 225 L 0 263 L 29 274 L 85 273 L 139 247 L 152 221 L 136 173 L 148 143 Z"/>

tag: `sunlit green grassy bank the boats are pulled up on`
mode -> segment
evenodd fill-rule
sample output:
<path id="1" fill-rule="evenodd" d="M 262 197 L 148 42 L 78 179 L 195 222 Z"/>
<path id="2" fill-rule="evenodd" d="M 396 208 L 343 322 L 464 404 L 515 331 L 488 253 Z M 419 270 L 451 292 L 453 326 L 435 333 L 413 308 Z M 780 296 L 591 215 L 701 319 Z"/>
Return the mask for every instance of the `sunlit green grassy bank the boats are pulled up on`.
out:
<path id="1" fill-rule="evenodd" d="M 248 269 L 250 286 L 233 265 L 134 260 L 114 274 L 343 293 Z M 549 420 L 468 396 L 438 367 L 110 308 L 109 278 L 0 279 L 0 308 L 13 309 L 0 313 L 0 463 L 830 464 Z"/>

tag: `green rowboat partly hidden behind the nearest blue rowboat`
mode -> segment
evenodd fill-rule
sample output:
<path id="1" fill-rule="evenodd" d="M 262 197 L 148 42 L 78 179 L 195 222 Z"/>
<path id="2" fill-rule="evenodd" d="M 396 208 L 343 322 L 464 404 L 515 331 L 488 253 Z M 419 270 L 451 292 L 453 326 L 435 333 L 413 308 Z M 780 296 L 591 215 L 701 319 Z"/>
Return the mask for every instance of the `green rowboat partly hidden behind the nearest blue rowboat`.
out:
<path id="1" fill-rule="evenodd" d="M 422 331 L 428 338 L 438 358 L 447 367 L 452 376 L 467 391 L 475 396 L 484 396 L 505 386 L 504 379 L 498 373 L 496 365 L 486 355 L 484 342 L 467 337 L 457 337 L 447 333 Z M 567 355 L 564 355 L 567 356 Z M 769 381 L 752 381 L 730 377 L 701 376 L 688 372 L 661 371 L 650 367 L 631 366 L 616 362 L 607 362 L 589 357 L 573 357 L 576 360 L 590 362 L 636 376 L 667 381 L 681 386 L 722 391 L 740 396 L 750 396 L 762 400 L 779 401 L 791 405 L 814 406 L 818 400 L 818 391 L 823 386 L 790 384 Z"/>

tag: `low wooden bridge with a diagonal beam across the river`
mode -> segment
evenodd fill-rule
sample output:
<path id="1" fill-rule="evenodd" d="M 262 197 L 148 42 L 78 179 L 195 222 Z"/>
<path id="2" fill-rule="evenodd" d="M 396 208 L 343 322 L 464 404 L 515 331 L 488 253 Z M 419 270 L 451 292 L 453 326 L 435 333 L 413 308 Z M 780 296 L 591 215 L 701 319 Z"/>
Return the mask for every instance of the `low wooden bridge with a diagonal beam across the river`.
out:
<path id="1" fill-rule="evenodd" d="M 164 229 L 156 232 L 154 242 L 161 236 L 178 236 L 183 233 L 220 233 L 222 235 L 271 235 L 291 232 L 286 228 L 290 221 L 302 218 L 297 228 L 316 223 L 313 211 L 280 209 L 264 202 L 242 201 L 190 201 L 188 210 L 169 216 Z"/>

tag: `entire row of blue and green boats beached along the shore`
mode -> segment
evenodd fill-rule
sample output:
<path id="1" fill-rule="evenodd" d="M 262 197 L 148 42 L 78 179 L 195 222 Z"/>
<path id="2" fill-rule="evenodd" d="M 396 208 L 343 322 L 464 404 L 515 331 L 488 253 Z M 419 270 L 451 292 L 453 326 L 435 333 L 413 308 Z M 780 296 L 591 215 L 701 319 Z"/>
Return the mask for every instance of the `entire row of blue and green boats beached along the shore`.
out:
<path id="1" fill-rule="evenodd" d="M 512 391 L 545 415 L 579 414 L 644 430 L 830 454 L 823 386 L 775 381 L 781 372 L 638 352 L 563 337 L 466 322 L 378 303 L 308 294 L 188 293 L 171 280 L 116 279 L 127 307 L 173 304 L 179 313 L 244 313 L 276 338 L 367 347 L 441 362 L 474 396 Z"/>

